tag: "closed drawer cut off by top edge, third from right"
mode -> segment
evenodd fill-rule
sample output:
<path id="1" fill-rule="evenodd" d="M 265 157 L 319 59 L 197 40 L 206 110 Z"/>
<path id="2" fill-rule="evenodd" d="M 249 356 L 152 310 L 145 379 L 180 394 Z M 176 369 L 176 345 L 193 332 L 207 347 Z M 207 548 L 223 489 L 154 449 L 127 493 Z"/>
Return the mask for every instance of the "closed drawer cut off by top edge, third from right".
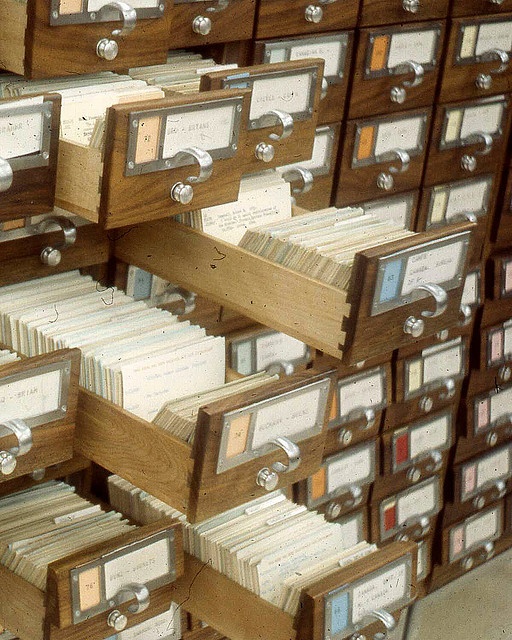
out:
<path id="1" fill-rule="evenodd" d="M 356 26 L 358 0 L 261 0 L 256 16 L 256 38 L 280 38 L 321 33 Z"/>

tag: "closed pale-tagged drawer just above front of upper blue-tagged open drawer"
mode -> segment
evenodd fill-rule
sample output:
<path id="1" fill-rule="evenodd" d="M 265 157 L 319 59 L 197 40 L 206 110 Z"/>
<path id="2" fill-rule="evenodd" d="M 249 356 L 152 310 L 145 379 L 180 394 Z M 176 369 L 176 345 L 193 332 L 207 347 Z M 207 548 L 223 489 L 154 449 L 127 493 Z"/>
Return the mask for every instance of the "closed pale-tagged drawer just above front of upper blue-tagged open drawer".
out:
<path id="1" fill-rule="evenodd" d="M 460 220 L 475 220 L 478 226 L 470 263 L 478 263 L 494 212 L 495 182 L 498 177 L 488 174 L 422 189 L 416 231 L 447 226 Z"/>

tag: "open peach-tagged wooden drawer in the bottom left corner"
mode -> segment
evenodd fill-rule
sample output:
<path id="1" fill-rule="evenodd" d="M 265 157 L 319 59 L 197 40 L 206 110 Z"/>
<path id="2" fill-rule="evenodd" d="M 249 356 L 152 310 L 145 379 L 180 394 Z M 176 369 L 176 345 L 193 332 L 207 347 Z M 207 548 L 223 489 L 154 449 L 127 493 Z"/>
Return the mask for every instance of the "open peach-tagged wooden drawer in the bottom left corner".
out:
<path id="1" fill-rule="evenodd" d="M 20 640 L 104 640 L 115 611 L 130 628 L 168 609 L 182 573 L 181 526 L 163 519 L 53 562 L 45 591 L 0 566 L 0 624 Z"/>

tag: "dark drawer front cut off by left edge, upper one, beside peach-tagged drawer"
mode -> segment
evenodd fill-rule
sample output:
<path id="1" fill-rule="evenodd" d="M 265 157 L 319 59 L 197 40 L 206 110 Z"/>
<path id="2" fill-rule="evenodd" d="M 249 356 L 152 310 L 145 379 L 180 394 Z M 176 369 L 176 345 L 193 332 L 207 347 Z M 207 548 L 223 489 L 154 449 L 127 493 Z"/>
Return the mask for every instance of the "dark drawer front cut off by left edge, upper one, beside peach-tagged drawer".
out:
<path id="1" fill-rule="evenodd" d="M 0 100 L 0 222 L 53 209 L 59 123 L 60 96 Z"/>

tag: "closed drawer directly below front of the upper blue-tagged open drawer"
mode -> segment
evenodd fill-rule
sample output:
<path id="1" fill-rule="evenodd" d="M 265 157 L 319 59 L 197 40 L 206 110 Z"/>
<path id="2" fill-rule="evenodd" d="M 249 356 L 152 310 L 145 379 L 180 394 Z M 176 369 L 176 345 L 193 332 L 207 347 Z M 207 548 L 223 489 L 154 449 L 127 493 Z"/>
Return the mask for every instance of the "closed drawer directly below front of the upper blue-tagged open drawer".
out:
<path id="1" fill-rule="evenodd" d="M 391 363 L 337 380 L 325 452 L 333 453 L 375 438 L 391 397 Z"/>

